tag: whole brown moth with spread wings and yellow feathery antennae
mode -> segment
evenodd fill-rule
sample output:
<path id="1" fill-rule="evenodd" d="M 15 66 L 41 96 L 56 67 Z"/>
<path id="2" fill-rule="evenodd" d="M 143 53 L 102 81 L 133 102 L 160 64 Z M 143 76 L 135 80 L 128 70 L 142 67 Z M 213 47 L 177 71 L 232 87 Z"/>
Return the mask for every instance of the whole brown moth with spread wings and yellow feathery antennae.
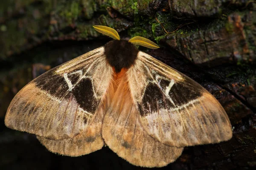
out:
<path id="1" fill-rule="evenodd" d="M 157 44 L 94 28 L 114 40 L 29 82 L 9 105 L 7 127 L 35 134 L 53 153 L 81 156 L 107 145 L 141 167 L 232 137 L 227 113 L 206 89 L 135 46 Z"/>

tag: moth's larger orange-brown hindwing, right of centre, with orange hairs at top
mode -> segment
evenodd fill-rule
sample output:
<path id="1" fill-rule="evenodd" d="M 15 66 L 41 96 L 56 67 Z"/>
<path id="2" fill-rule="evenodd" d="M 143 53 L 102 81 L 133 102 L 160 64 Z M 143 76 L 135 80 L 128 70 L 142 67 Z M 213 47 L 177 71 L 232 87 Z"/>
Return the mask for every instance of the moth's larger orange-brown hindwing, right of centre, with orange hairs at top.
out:
<path id="1" fill-rule="evenodd" d="M 104 116 L 102 137 L 118 156 L 141 167 L 163 167 L 175 161 L 183 148 L 160 143 L 143 129 L 126 79 L 122 79 Z"/>

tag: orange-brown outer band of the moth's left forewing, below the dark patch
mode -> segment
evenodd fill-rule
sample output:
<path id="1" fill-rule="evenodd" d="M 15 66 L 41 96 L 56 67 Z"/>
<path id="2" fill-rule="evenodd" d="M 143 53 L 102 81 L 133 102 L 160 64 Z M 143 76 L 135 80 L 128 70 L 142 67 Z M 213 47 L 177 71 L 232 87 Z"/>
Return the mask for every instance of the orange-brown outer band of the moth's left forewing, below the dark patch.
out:
<path id="1" fill-rule="evenodd" d="M 7 113 L 7 127 L 50 139 L 76 136 L 86 126 L 84 120 L 92 117 L 78 106 L 73 96 L 58 100 L 35 83 L 30 83 L 16 95 Z"/>

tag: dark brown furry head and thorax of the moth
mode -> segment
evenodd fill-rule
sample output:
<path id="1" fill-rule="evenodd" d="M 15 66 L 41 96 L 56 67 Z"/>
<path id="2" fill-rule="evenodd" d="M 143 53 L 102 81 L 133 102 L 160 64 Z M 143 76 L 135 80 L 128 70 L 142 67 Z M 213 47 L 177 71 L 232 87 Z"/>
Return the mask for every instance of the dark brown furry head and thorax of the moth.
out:
<path id="1" fill-rule="evenodd" d="M 122 68 L 130 68 L 137 59 L 139 50 L 126 40 L 112 40 L 105 45 L 108 63 L 119 73 Z"/>

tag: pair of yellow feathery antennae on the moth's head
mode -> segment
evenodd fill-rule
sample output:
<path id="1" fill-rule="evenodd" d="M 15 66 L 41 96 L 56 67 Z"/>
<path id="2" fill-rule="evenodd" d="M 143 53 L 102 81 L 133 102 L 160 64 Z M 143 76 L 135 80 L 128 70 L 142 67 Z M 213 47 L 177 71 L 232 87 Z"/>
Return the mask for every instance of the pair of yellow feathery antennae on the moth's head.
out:
<path id="1" fill-rule="evenodd" d="M 93 26 L 93 28 L 102 34 L 113 38 L 114 40 L 120 40 L 119 34 L 113 28 L 110 28 L 107 26 Z M 134 45 L 141 45 L 141 46 L 152 48 L 152 49 L 160 48 L 156 43 L 140 36 L 131 38 L 129 42 L 131 42 Z"/>

